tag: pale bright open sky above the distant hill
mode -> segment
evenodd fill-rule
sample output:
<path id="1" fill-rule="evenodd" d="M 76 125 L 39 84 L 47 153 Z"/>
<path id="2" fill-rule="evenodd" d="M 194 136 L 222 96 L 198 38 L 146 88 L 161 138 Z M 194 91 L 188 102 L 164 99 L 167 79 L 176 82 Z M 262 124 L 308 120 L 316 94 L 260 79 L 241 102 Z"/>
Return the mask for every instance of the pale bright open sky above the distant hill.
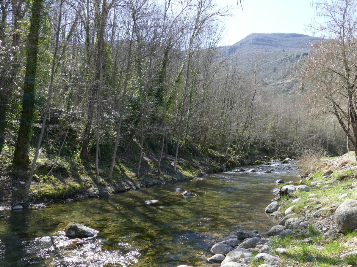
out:
<path id="1" fill-rule="evenodd" d="M 217 2 L 232 7 L 232 17 L 223 21 L 226 31 L 220 45 L 233 45 L 254 32 L 314 35 L 308 27 L 316 10 L 311 0 L 244 0 L 243 11 L 236 0 Z"/>

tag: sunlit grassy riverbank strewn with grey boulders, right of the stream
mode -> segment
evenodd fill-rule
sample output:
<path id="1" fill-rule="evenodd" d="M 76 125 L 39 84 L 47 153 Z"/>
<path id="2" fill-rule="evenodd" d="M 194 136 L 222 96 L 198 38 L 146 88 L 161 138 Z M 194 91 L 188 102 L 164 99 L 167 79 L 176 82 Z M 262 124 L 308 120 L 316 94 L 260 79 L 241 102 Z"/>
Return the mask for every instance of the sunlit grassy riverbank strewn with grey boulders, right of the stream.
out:
<path id="1" fill-rule="evenodd" d="M 356 176 L 351 153 L 325 158 L 300 182 L 277 180 L 277 198 L 265 212 L 278 224 L 266 233 L 239 231 L 213 245 L 207 266 L 357 266 Z"/>

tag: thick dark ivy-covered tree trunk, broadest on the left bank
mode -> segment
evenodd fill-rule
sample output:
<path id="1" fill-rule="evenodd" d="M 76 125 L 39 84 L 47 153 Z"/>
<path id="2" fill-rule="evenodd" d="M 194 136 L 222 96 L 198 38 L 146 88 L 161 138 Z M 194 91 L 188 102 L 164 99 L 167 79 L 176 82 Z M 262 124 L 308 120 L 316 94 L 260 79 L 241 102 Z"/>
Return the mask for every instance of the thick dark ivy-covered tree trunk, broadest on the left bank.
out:
<path id="1" fill-rule="evenodd" d="M 27 37 L 27 59 L 24 78 L 24 95 L 22 96 L 22 114 L 19 135 L 14 152 L 13 166 L 27 168 L 29 166 L 29 144 L 32 120 L 35 111 L 35 82 L 37 70 L 37 49 L 40 28 L 43 21 L 43 0 L 33 0 L 29 36 Z M 29 186 L 29 185 L 28 185 Z"/>

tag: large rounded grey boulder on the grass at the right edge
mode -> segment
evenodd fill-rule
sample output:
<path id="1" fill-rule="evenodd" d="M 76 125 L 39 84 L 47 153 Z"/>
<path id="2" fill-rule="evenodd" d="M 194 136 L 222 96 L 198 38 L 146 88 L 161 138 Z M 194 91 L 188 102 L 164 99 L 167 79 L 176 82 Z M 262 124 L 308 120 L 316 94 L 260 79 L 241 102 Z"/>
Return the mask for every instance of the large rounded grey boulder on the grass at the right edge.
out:
<path id="1" fill-rule="evenodd" d="M 335 224 L 342 233 L 357 229 L 357 200 L 343 201 L 335 211 Z"/>

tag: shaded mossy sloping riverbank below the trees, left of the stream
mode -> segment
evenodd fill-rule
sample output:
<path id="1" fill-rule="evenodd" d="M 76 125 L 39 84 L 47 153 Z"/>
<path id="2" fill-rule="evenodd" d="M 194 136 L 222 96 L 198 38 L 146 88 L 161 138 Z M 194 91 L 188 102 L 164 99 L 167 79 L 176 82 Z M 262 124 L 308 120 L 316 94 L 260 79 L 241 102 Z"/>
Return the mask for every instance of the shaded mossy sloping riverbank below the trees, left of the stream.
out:
<path id="1" fill-rule="evenodd" d="M 30 202 L 27 204 L 45 204 L 74 197 L 107 197 L 112 193 L 190 180 L 205 174 L 251 164 L 269 155 L 268 151 L 258 148 L 252 151 L 250 155 L 237 156 L 224 156 L 213 150 L 198 152 L 195 155 L 185 153 L 178 159 L 176 172 L 172 171 L 174 157 L 166 154 L 161 161 L 160 174 L 157 173 L 158 156 L 154 151 L 150 151 L 145 153 L 139 177 L 136 175 L 137 158 L 133 155 L 121 155 L 111 179 L 107 178 L 110 161 L 102 161 L 99 184 L 95 183 L 95 166 L 91 161 L 64 156 L 56 162 L 51 159 L 50 155 L 42 152 L 30 187 Z M 10 159 L 10 153 L 0 157 L 0 206 L 2 209 L 17 204 L 27 205 L 22 203 L 22 194 L 30 170 L 12 169 Z"/>

